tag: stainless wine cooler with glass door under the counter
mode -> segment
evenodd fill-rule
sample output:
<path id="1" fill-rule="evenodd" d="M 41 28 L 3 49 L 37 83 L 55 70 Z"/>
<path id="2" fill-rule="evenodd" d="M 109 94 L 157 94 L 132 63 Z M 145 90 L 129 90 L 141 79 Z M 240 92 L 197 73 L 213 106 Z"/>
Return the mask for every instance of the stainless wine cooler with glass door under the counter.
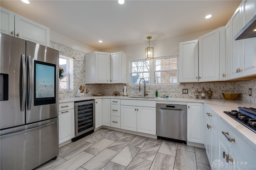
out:
<path id="1" fill-rule="evenodd" d="M 72 138 L 72 142 L 93 133 L 94 128 L 94 99 L 75 102 L 75 137 Z"/>

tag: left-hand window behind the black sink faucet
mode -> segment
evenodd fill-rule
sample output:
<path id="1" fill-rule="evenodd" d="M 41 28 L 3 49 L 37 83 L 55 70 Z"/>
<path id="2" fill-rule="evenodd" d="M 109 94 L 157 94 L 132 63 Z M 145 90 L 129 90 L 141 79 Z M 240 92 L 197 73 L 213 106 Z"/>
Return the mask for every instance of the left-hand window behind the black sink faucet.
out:
<path id="1" fill-rule="evenodd" d="M 149 83 L 149 61 L 140 60 L 131 62 L 131 84 L 138 84 L 141 78 L 145 79 L 145 83 Z M 144 82 L 143 82 L 144 83 Z"/>

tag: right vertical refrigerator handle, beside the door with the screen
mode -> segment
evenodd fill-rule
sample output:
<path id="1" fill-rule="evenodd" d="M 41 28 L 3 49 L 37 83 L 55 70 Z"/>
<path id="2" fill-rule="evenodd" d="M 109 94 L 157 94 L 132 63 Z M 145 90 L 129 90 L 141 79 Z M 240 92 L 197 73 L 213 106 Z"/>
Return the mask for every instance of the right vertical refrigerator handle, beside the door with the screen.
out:
<path id="1" fill-rule="evenodd" d="M 27 79 L 28 79 L 28 89 L 27 89 L 27 110 L 31 110 L 32 103 L 32 60 L 31 55 L 28 55 L 28 64 L 27 64 Z"/>

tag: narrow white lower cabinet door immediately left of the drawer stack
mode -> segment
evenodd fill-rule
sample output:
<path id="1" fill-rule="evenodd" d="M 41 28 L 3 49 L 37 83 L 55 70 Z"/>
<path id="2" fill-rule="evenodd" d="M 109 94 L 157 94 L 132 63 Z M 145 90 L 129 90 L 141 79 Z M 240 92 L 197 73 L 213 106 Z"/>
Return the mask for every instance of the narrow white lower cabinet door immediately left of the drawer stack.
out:
<path id="1" fill-rule="evenodd" d="M 110 99 L 102 99 L 102 125 L 110 127 Z"/>

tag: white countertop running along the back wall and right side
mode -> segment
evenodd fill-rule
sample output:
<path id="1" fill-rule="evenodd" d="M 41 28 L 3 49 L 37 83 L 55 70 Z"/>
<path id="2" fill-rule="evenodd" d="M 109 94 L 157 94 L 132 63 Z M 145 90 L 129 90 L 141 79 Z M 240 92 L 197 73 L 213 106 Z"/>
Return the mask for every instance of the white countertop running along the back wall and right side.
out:
<path id="1" fill-rule="evenodd" d="M 256 108 L 256 104 L 248 103 L 244 101 L 229 101 L 225 99 L 208 99 L 208 98 L 182 98 L 182 97 L 170 97 L 170 98 L 160 98 L 156 97 L 155 99 L 148 99 L 148 98 L 131 98 L 131 97 L 124 97 L 124 96 L 88 96 L 88 97 L 71 97 L 60 99 L 59 103 L 65 103 L 70 101 L 83 101 L 83 100 L 90 100 L 90 99 L 101 99 L 101 98 L 108 98 L 108 99 L 131 99 L 131 100 L 153 100 L 156 103 L 166 103 L 173 104 L 178 103 L 187 103 L 187 102 L 194 102 L 194 103 L 205 103 L 207 104 L 212 110 L 214 110 L 222 119 L 227 121 L 232 127 L 236 128 L 238 132 L 246 137 L 246 141 L 248 144 L 252 145 L 252 147 L 256 147 L 256 133 L 252 132 L 252 130 L 244 127 L 242 124 L 238 123 L 236 120 L 232 119 L 223 111 L 231 111 L 231 110 L 238 110 L 238 107 L 254 107 Z"/>

